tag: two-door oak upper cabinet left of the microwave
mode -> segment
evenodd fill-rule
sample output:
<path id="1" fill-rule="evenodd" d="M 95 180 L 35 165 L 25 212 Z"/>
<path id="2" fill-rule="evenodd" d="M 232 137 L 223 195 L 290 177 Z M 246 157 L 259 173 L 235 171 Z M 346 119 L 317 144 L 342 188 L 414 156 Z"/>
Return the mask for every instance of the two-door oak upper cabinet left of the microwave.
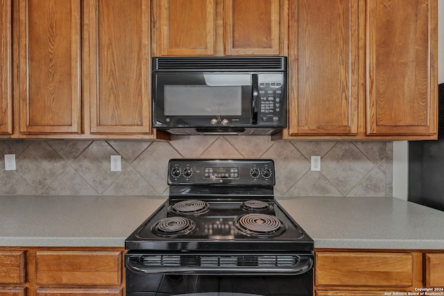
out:
<path id="1" fill-rule="evenodd" d="M 7 15 L 10 2 L 0 3 Z M 18 137 L 158 136 L 151 128 L 150 0 L 17 3 Z"/>

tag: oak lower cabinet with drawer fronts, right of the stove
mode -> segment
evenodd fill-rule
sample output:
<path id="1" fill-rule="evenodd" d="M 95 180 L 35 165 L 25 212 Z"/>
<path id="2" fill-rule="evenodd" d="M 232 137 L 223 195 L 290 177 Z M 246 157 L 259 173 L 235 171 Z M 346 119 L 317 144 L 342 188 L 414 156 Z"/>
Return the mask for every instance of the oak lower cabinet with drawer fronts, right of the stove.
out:
<path id="1" fill-rule="evenodd" d="M 419 288 L 444 287 L 442 250 L 316 249 L 315 253 L 315 296 L 416 295 Z"/>

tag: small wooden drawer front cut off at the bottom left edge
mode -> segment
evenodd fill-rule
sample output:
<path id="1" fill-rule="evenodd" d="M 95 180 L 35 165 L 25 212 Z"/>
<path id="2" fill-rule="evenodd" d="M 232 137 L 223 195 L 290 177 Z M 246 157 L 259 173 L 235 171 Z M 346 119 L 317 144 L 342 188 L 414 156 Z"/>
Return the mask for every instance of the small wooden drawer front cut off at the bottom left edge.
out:
<path id="1" fill-rule="evenodd" d="M 0 252 L 0 284 L 24 284 L 25 281 L 25 252 Z"/>

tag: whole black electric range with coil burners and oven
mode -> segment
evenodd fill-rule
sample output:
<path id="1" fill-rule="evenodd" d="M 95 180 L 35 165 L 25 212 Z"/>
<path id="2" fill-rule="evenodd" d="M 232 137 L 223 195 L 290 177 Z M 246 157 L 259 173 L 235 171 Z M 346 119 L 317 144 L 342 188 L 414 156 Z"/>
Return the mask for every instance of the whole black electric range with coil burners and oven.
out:
<path id="1" fill-rule="evenodd" d="M 269 159 L 171 159 L 169 198 L 125 242 L 126 295 L 313 295 L 314 243 Z"/>

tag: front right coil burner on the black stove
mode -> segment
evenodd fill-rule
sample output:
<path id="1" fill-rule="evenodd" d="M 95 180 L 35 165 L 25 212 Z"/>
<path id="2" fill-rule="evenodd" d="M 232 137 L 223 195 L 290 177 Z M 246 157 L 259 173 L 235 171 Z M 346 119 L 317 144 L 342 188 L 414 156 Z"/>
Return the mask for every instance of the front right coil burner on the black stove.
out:
<path id="1" fill-rule="evenodd" d="M 244 234 L 256 237 L 280 236 L 285 231 L 279 218 L 266 214 L 244 214 L 236 218 L 233 225 Z"/>

